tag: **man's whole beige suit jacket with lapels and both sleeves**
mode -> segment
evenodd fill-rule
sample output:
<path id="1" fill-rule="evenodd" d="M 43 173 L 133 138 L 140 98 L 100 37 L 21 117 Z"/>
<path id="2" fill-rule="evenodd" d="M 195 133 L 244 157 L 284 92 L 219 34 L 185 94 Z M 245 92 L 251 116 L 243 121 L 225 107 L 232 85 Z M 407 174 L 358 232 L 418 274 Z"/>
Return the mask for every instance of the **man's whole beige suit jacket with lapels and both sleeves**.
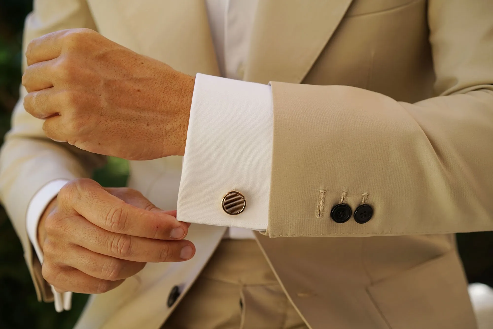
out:
<path id="1" fill-rule="evenodd" d="M 218 74 L 202 0 L 37 0 L 25 44 L 76 27 L 190 75 Z M 450 233 L 493 229 L 492 31 L 491 0 L 259 1 L 243 79 L 273 81 L 274 151 L 269 228 L 257 239 L 311 328 L 476 327 Z M 20 100 L 0 197 L 46 300 L 27 205 L 47 182 L 99 163 L 46 139 Z M 131 187 L 176 207 L 179 157 L 130 166 Z M 373 206 L 373 218 L 335 223 L 341 200 Z M 92 296 L 76 328 L 159 328 L 171 288 L 190 287 L 223 232 L 192 225 L 192 260 L 148 264 Z"/>

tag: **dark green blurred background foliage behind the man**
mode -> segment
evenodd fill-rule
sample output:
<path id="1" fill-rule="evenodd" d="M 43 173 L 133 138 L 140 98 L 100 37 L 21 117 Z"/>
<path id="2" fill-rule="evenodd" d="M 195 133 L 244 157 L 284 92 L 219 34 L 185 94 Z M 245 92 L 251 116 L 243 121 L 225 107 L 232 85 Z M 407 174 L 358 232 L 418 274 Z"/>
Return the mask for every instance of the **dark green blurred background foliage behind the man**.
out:
<path id="1" fill-rule="evenodd" d="M 0 145 L 18 98 L 22 28 L 31 10 L 32 0 L 0 0 Z M 125 161 L 109 158 L 94 179 L 104 186 L 124 186 L 127 175 Z M 493 232 L 459 234 L 458 247 L 469 282 L 493 286 Z M 0 206 L 0 329 L 72 328 L 87 296 L 75 294 L 72 310 L 60 314 L 53 304 L 38 303 L 22 253 Z"/>

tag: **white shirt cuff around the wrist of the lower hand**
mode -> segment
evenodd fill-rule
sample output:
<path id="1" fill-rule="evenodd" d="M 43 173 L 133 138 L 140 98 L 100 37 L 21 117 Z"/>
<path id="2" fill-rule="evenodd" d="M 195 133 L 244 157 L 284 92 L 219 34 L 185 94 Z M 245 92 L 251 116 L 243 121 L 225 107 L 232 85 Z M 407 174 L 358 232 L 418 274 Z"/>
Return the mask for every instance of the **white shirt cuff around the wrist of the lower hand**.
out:
<path id="1" fill-rule="evenodd" d="M 46 209 L 46 206 L 48 206 L 50 201 L 57 196 L 58 192 L 60 192 L 62 187 L 67 184 L 67 182 L 68 180 L 66 179 L 56 179 L 47 183 L 39 189 L 39 191 L 37 191 L 28 206 L 28 211 L 26 214 L 26 230 L 29 240 L 31 241 L 31 244 L 36 252 L 37 259 L 39 259 L 41 264 L 43 263 L 43 252 L 37 242 L 37 226 L 39 219 L 41 219 L 41 215 L 43 214 L 44 209 Z M 56 292 L 53 286 L 51 286 L 51 291 L 55 297 L 55 310 L 57 312 L 70 310 L 72 305 L 72 292 Z"/>

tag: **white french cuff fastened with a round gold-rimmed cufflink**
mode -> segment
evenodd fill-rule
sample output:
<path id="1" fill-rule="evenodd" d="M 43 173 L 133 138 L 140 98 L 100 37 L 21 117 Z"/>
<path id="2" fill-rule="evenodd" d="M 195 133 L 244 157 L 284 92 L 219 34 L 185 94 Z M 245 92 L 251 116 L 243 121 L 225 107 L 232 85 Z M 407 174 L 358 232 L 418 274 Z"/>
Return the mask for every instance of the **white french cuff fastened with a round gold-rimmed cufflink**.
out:
<path id="1" fill-rule="evenodd" d="M 271 87 L 197 74 L 178 192 L 180 221 L 265 231 L 272 168 Z M 245 210 L 226 213 L 240 192 Z"/>

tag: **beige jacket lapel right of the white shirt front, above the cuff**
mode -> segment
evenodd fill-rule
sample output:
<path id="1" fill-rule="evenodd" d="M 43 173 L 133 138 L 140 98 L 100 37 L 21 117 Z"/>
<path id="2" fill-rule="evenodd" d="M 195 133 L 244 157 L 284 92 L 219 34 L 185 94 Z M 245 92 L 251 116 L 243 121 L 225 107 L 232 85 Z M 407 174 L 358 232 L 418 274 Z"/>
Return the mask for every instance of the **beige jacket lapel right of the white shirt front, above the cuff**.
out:
<path id="1" fill-rule="evenodd" d="M 352 0 L 259 0 L 244 80 L 299 83 Z"/>

